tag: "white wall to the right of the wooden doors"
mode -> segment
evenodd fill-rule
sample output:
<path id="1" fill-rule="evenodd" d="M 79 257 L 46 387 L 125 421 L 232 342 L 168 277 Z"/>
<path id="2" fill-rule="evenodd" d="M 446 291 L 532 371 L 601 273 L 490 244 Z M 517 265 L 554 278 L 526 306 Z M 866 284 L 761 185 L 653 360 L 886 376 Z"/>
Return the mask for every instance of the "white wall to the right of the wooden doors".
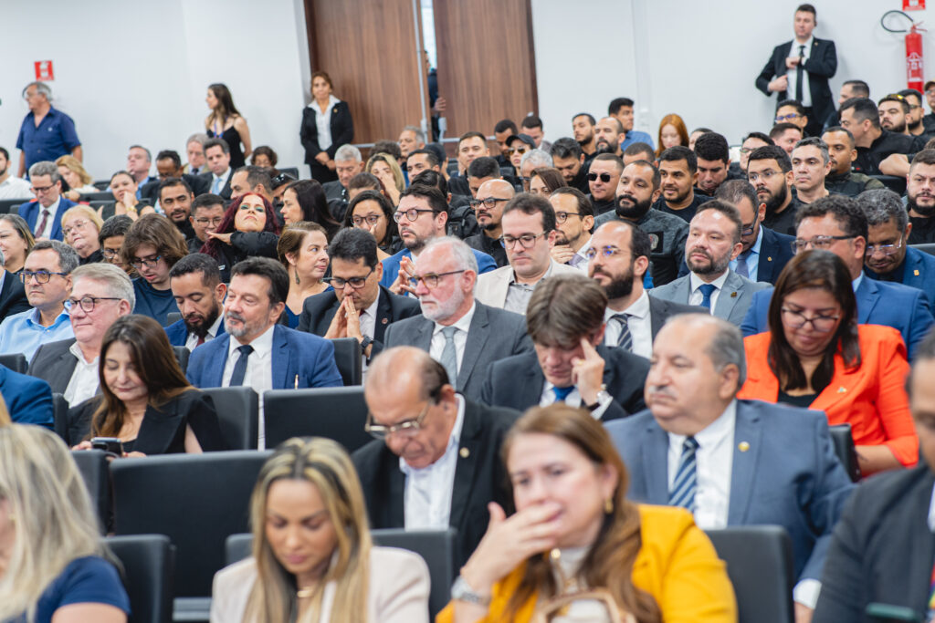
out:
<path id="1" fill-rule="evenodd" d="M 570 135 L 570 115 L 599 118 L 615 96 L 637 102 L 637 129 L 657 135 L 678 113 L 689 130 L 705 125 L 732 142 L 769 131 L 775 98 L 754 81 L 772 48 L 792 38 L 798 0 L 532 0 L 539 113 L 550 139 Z M 825 0 L 815 36 L 838 49 L 831 80 L 860 78 L 879 99 L 906 87 L 903 35 L 886 33 L 880 17 L 899 2 Z M 929 3 L 931 5 L 931 3 Z M 935 19 L 935 9 L 910 13 Z M 893 20 L 894 24 L 905 21 Z M 889 24 L 890 21 L 887 21 Z M 905 22 L 908 23 L 908 22 Z M 935 34 L 923 33 L 927 77 L 935 77 Z"/>

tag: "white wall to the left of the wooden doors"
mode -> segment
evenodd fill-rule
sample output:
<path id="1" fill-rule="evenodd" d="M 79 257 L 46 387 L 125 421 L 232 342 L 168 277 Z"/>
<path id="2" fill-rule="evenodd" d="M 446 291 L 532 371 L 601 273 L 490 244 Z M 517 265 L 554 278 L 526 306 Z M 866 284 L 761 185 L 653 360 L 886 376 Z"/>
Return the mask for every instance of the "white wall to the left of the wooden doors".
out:
<path id="1" fill-rule="evenodd" d="M 211 82 L 231 89 L 254 147 L 272 145 L 281 165 L 297 166 L 309 82 L 304 16 L 302 0 L 4 2 L 0 146 L 16 144 L 33 63 L 51 60 L 54 105 L 75 120 L 96 179 L 123 168 L 133 143 L 153 157 L 175 149 L 184 161 L 185 139 L 203 131 Z"/>

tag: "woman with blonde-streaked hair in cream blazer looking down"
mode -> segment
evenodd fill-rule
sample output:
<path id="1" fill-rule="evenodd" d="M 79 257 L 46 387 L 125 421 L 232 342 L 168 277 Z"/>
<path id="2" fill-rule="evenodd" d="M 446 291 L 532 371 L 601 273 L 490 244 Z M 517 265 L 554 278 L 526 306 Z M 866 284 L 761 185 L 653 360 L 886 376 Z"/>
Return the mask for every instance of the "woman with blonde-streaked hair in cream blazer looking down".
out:
<path id="1" fill-rule="evenodd" d="M 253 489 L 252 558 L 214 577 L 212 622 L 427 623 L 428 569 L 371 544 L 360 481 L 330 439 L 293 438 Z"/>

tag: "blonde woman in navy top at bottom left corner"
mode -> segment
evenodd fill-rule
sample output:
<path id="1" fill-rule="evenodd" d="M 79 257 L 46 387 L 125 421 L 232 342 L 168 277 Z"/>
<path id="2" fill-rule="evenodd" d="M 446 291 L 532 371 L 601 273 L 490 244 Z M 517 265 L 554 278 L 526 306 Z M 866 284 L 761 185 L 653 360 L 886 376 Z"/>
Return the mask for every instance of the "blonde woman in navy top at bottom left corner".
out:
<path id="1" fill-rule="evenodd" d="M 0 620 L 125 623 L 113 556 L 68 448 L 38 426 L 0 426 Z"/>

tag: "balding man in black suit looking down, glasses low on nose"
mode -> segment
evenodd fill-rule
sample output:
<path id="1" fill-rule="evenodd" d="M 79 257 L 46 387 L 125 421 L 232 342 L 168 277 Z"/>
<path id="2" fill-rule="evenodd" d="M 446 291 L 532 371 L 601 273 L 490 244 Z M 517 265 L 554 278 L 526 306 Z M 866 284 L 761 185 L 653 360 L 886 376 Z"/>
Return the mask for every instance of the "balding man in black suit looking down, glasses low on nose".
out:
<path id="1" fill-rule="evenodd" d="M 457 565 L 481 542 L 487 504 L 511 508 L 500 446 L 519 413 L 465 399 L 424 350 L 374 360 L 364 398 L 372 441 L 353 461 L 371 528 L 458 531 Z"/>

